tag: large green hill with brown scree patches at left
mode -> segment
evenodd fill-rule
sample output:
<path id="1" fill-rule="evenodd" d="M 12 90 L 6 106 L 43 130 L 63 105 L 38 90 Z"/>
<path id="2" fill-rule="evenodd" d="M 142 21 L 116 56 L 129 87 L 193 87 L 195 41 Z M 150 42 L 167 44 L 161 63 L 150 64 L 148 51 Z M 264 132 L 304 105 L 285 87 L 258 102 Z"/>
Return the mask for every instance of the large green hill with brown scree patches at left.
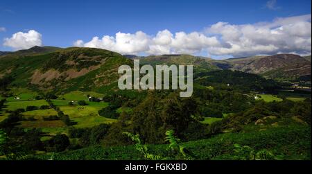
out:
<path id="1" fill-rule="evenodd" d="M 23 53 L 46 52 L 51 49 L 55 48 L 35 47 Z M 15 78 L 12 85 L 17 87 L 62 92 L 105 92 L 106 89 L 113 90 L 112 84 L 116 84 L 119 78 L 117 69 L 122 64 L 131 65 L 132 60 L 103 49 L 71 47 L 57 49 L 52 53 L 4 56 L 0 59 L 0 76 L 10 74 Z"/>

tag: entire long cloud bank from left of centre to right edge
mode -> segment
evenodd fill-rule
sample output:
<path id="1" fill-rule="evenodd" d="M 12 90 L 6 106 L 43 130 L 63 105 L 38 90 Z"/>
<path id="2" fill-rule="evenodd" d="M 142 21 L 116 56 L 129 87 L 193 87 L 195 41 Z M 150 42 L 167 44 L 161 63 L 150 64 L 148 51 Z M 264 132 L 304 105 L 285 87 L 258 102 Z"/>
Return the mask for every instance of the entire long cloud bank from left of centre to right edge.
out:
<path id="1" fill-rule="evenodd" d="M 247 56 L 275 53 L 311 54 L 311 14 L 277 18 L 270 22 L 235 25 L 220 21 L 204 32 L 159 31 L 147 35 L 116 33 L 77 40 L 75 46 L 108 49 L 122 54 L 202 53 L 207 55 Z"/>

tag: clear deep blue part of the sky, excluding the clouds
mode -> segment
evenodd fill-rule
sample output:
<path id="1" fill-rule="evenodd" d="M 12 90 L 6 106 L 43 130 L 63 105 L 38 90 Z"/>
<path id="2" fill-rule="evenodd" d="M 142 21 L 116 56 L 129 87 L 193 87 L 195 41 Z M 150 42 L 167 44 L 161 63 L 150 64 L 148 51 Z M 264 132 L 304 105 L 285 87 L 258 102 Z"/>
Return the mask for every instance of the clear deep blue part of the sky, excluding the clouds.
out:
<path id="1" fill-rule="evenodd" d="M 2 31 L 0 29 L 2 42 L 0 50 L 15 50 L 16 48 L 12 46 L 3 46 L 4 38 L 10 38 L 17 32 L 27 33 L 29 30 L 42 35 L 42 45 L 67 47 L 73 46 L 76 40 L 83 40 L 85 43 L 94 36 L 100 39 L 103 35 L 115 37 L 118 32 L 134 34 L 142 31 L 154 37 L 159 31 L 166 29 L 173 35 L 182 31 L 187 34 L 198 32 L 209 36 L 211 33 L 205 32 L 207 28 L 220 21 L 231 25 L 245 25 L 272 22 L 277 17 L 309 14 L 311 14 L 310 0 L 49 2 L 1 0 L 0 28 L 5 29 Z M 311 19 L 307 20 L 311 23 Z M 215 34 L 215 37 L 220 37 L 220 33 Z M 141 52 L 144 51 L 135 53 Z M 206 54 L 207 50 L 191 53 Z"/>

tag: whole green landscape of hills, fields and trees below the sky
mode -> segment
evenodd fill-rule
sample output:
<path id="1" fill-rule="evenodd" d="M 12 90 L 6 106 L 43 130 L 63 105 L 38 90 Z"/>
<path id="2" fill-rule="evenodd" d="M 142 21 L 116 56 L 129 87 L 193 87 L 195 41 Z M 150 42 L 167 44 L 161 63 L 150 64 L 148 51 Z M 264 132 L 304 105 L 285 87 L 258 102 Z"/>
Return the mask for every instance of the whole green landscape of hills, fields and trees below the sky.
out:
<path id="1" fill-rule="evenodd" d="M 0 159 L 149 159 L 124 132 L 138 134 L 149 153 L 189 159 L 168 150 L 171 130 L 191 159 L 255 159 L 263 152 L 268 156 L 260 159 L 311 158 L 311 92 L 281 91 L 280 82 L 243 72 L 256 62 L 261 74 L 261 67 L 291 67 L 289 56 L 139 57 L 154 66 L 193 64 L 193 94 L 181 98 L 179 90 L 119 90 L 117 69 L 132 66 L 135 55 L 50 49 L 0 58 L 0 135 L 8 137 Z M 304 64 L 300 58 L 294 56 Z"/>

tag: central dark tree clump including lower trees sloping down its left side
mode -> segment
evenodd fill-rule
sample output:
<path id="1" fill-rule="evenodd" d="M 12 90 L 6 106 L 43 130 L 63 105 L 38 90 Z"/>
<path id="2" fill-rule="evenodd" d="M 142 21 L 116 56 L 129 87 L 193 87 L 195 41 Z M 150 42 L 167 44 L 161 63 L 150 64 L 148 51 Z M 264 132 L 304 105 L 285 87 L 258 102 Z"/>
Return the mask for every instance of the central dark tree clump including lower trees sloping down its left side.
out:
<path id="1" fill-rule="evenodd" d="M 144 143 L 164 143 L 166 130 L 174 130 L 183 140 L 202 138 L 205 125 L 193 118 L 197 107 L 196 98 L 180 98 L 178 92 L 149 92 L 131 114 L 123 112 L 119 116 L 103 143 L 106 146 L 130 143 L 122 132 L 140 134 Z"/>

